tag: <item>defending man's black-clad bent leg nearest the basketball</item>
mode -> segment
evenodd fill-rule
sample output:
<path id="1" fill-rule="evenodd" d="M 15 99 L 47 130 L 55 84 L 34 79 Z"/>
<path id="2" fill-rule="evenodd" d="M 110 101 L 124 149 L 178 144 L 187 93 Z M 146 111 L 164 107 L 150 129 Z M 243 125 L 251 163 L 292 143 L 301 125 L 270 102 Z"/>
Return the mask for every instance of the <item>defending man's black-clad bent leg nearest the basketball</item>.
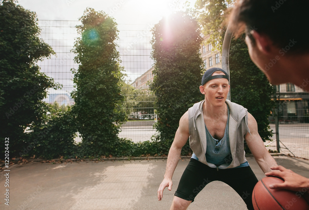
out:
<path id="1" fill-rule="evenodd" d="M 231 186 L 246 203 L 249 210 L 254 210 L 252 204 L 253 188 L 258 182 L 250 166 L 225 169 L 226 176 L 223 182 Z"/>

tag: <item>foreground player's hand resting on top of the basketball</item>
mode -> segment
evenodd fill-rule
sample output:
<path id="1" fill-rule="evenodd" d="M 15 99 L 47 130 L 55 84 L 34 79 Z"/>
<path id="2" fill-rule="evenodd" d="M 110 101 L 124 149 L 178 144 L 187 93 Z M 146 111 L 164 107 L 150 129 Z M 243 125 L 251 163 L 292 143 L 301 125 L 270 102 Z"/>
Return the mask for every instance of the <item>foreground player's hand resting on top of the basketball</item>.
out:
<path id="1" fill-rule="evenodd" d="M 270 167 L 272 170 L 279 170 L 279 171 L 271 171 L 268 173 L 265 173 L 266 176 L 277 176 L 281 177 L 284 182 L 281 184 L 271 184 L 269 185 L 269 188 L 271 189 L 286 189 L 286 190 L 292 190 L 292 191 L 299 191 L 303 188 L 309 189 L 309 179 L 306 177 L 303 177 L 299 174 L 296 174 L 295 172 L 286 169 L 283 166 L 275 166 Z"/>

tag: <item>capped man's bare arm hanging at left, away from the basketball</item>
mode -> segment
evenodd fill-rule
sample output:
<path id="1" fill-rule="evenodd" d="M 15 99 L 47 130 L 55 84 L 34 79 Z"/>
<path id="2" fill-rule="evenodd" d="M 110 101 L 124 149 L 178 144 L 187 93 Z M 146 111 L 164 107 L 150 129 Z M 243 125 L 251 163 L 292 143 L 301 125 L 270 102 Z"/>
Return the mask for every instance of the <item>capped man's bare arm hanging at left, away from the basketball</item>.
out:
<path id="1" fill-rule="evenodd" d="M 165 187 L 168 187 L 168 190 L 172 189 L 172 176 L 178 164 L 181 149 L 186 144 L 189 138 L 189 121 L 188 121 L 188 111 L 180 118 L 179 127 L 176 131 L 174 141 L 171 145 L 171 148 L 168 152 L 166 170 L 164 174 L 164 179 L 160 184 L 158 189 L 158 200 L 161 200 L 163 197 L 163 190 Z"/>

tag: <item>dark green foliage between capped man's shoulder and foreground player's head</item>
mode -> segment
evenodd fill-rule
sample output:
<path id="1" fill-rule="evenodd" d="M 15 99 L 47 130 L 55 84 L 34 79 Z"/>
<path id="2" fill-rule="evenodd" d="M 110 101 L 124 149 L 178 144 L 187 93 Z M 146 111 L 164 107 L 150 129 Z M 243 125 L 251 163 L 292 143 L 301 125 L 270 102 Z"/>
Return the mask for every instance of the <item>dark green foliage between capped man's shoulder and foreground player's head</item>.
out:
<path id="1" fill-rule="evenodd" d="M 231 77 L 231 101 L 243 105 L 257 121 L 261 138 L 269 140 L 273 134 L 269 127 L 269 115 L 274 107 L 273 86 L 252 62 L 244 41 L 232 39 L 229 55 Z"/>

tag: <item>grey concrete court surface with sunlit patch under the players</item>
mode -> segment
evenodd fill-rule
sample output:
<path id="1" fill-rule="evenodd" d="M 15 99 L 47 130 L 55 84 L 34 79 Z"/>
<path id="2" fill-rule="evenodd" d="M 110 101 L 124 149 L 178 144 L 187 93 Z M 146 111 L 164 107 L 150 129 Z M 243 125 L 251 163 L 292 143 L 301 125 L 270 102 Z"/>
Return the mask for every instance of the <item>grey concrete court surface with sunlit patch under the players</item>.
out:
<path id="1" fill-rule="evenodd" d="M 309 177 L 309 160 L 273 156 L 279 165 Z M 252 156 L 247 157 L 258 179 L 265 175 Z M 0 172 L 0 209 L 6 210 L 158 210 L 169 209 L 189 159 L 180 160 L 173 176 L 172 191 L 157 190 L 166 160 L 104 161 L 79 163 L 27 163 Z M 9 206 L 4 193 L 9 189 Z M 251 196 L 251 195 L 250 195 Z M 220 201 L 218 201 L 220 200 Z M 209 183 L 188 209 L 247 209 L 243 200 L 222 182 Z"/>

